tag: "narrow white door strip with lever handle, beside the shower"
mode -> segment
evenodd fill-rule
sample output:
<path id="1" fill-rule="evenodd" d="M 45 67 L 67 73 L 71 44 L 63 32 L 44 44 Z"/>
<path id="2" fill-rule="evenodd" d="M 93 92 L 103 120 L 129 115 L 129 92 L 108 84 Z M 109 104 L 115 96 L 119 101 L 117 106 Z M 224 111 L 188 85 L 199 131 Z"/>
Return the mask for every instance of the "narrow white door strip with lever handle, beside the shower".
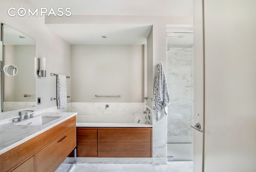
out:
<path id="1" fill-rule="evenodd" d="M 203 172 L 204 165 L 204 46 L 202 0 L 193 0 L 194 30 L 194 129 L 193 172 Z"/>

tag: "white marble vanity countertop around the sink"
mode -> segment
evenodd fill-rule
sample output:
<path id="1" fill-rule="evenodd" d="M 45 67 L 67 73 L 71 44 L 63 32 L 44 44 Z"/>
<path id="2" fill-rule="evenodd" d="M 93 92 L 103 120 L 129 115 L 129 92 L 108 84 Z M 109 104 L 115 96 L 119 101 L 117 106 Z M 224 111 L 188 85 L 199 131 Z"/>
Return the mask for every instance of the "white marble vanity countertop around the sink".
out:
<path id="1" fill-rule="evenodd" d="M 76 116 L 76 112 L 42 112 L 36 116 L 62 116 L 47 124 L 36 125 L 15 125 L 18 122 L 10 122 L 0 125 L 0 154 L 11 150 L 12 148 L 34 138 L 35 136 L 49 130 L 50 128 L 60 124 L 61 122 Z M 24 120 L 22 120 L 24 121 Z M 22 122 L 21 121 L 21 122 Z"/>

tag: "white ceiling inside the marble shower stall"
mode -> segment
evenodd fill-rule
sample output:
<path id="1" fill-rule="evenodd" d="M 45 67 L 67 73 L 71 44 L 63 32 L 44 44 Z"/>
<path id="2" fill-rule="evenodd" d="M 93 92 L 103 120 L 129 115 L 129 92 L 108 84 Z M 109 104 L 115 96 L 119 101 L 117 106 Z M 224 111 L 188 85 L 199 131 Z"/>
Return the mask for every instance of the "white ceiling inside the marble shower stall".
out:
<path id="1" fill-rule="evenodd" d="M 192 47 L 193 42 L 193 33 L 173 33 L 173 36 L 167 37 L 168 47 Z"/>

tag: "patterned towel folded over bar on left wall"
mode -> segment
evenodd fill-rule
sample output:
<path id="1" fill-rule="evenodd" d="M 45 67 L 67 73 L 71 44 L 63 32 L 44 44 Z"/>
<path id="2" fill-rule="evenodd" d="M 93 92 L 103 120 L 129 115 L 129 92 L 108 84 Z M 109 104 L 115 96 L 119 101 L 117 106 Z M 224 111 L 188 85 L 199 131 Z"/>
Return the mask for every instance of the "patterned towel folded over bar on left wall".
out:
<path id="1" fill-rule="evenodd" d="M 67 78 L 65 75 L 57 75 L 57 104 L 58 108 L 67 106 Z"/>

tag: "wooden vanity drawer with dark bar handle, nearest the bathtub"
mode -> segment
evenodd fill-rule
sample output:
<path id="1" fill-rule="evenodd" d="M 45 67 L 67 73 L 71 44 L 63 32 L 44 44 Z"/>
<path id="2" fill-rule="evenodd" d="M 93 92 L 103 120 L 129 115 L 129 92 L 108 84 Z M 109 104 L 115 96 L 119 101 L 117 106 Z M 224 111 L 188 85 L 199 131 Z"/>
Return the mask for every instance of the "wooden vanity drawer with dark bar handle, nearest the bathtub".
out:
<path id="1" fill-rule="evenodd" d="M 76 126 L 36 153 L 36 172 L 53 172 L 76 147 Z"/>

